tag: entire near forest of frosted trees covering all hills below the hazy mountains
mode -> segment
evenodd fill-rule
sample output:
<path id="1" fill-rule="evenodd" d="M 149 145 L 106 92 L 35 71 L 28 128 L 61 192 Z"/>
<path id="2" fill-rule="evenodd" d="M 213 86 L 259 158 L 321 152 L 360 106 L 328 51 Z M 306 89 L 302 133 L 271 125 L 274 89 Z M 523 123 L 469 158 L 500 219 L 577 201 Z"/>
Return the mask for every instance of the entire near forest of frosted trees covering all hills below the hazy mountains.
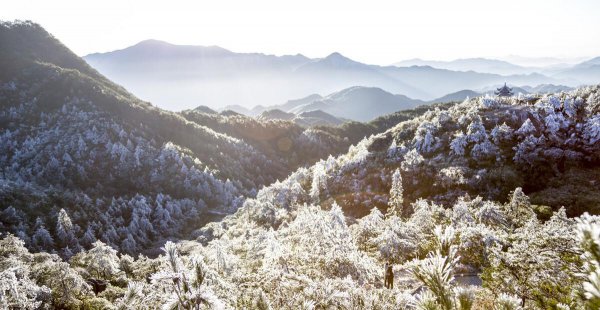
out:
<path id="1" fill-rule="evenodd" d="M 600 86 L 304 128 L 0 42 L 0 308 L 600 307 Z"/>

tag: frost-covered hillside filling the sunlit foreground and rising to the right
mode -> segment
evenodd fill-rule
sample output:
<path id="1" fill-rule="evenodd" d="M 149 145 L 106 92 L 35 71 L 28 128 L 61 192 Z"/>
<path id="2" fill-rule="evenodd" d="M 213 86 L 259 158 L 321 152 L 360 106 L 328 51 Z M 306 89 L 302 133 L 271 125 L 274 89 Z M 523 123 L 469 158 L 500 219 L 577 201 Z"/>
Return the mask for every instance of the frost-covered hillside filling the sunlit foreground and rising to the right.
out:
<path id="1" fill-rule="evenodd" d="M 99 241 L 64 263 L 5 237 L 0 266 L 18 267 L 2 276 L 19 294 L 4 300 L 71 308 L 594 309 L 600 219 L 568 213 L 598 210 L 599 89 L 474 98 L 402 121 L 260 190 L 198 230 L 196 241 L 167 242 L 156 259 Z M 385 263 L 393 287 L 383 285 Z"/>

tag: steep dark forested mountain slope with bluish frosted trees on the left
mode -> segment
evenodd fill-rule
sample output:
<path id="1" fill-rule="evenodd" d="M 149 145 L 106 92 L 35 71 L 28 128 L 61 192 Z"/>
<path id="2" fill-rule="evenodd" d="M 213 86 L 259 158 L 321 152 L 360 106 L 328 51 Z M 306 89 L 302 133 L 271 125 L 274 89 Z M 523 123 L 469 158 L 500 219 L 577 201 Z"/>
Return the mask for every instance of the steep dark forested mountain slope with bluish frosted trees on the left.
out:
<path id="1" fill-rule="evenodd" d="M 152 249 L 288 174 L 240 139 L 140 101 L 39 25 L 3 22 L 0 43 L 0 230 L 33 249 Z M 61 208 L 69 240 L 55 229 Z"/>

